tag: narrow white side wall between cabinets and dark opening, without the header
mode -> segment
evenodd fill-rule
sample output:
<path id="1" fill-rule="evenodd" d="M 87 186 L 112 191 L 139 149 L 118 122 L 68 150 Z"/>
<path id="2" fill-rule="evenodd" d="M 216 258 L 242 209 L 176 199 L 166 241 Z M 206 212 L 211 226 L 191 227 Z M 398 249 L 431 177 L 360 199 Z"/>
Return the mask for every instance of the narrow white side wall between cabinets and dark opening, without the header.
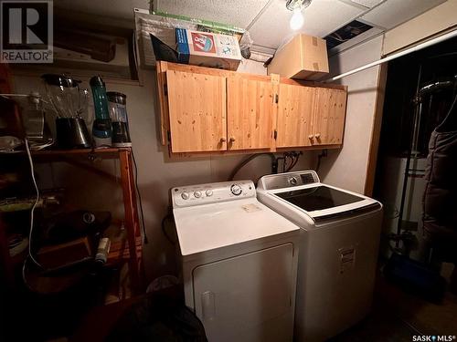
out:
<path id="1" fill-rule="evenodd" d="M 330 58 L 331 75 L 335 76 L 377 60 L 381 56 L 382 36 Z M 341 78 L 348 86 L 343 149 L 328 150 L 322 161 L 321 180 L 354 192 L 363 193 L 377 97 L 379 67 Z"/>

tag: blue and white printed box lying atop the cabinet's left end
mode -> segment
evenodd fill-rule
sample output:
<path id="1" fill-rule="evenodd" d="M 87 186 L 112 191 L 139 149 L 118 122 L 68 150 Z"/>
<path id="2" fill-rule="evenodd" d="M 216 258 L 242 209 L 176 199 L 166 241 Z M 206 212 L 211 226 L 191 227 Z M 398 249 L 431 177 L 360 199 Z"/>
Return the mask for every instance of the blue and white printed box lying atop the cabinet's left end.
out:
<path id="1" fill-rule="evenodd" d="M 236 36 L 176 28 L 176 50 L 180 63 L 236 70 L 241 51 Z"/>

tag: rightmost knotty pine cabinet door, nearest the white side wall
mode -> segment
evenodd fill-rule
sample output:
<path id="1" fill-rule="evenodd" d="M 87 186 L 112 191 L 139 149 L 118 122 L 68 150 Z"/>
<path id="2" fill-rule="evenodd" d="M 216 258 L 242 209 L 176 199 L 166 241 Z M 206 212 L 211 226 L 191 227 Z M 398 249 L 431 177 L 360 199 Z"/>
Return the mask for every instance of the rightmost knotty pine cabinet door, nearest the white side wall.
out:
<path id="1" fill-rule="evenodd" d="M 341 89 L 316 88 L 314 145 L 340 145 L 345 130 L 346 92 Z"/>

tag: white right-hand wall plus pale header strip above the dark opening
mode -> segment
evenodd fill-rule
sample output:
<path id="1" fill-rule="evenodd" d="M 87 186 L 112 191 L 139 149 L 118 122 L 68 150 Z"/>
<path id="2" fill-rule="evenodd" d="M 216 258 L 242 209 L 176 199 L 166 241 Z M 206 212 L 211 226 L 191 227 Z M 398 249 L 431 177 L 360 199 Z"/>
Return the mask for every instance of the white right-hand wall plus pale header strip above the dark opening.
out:
<path id="1" fill-rule="evenodd" d="M 457 0 L 448 0 L 384 36 L 330 57 L 330 74 L 335 76 L 379 59 L 402 47 L 457 25 Z M 327 183 L 355 192 L 365 192 L 367 163 L 377 100 L 379 66 L 341 78 L 348 86 L 345 137 L 342 150 L 329 150 L 319 176 Z"/>

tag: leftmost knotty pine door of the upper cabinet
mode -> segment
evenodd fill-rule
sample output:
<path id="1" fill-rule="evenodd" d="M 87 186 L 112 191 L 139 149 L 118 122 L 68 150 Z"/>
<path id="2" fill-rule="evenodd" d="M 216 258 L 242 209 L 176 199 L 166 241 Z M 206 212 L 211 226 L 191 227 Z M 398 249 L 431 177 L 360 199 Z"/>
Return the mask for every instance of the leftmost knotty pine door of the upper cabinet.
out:
<path id="1" fill-rule="evenodd" d="M 226 78 L 166 71 L 172 152 L 227 150 Z"/>

